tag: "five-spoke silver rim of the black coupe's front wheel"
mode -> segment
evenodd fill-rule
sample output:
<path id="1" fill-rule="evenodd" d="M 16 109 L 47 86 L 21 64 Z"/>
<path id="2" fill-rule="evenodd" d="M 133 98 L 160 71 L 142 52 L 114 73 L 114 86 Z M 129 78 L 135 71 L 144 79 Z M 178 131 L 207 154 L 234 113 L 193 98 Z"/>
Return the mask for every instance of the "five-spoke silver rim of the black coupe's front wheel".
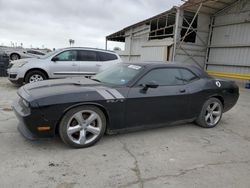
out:
<path id="1" fill-rule="evenodd" d="M 75 113 L 67 124 L 69 139 L 80 145 L 94 141 L 101 133 L 102 121 L 100 116 L 92 110 Z"/>

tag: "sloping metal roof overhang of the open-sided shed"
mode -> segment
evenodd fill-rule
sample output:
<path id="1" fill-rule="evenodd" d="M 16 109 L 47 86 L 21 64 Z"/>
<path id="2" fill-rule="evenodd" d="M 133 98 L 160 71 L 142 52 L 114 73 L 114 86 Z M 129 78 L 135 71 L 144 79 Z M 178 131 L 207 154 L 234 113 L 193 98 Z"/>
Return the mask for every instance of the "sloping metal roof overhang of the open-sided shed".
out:
<path id="1" fill-rule="evenodd" d="M 153 16 L 141 22 L 125 27 L 120 31 L 108 35 L 106 39 L 110 41 L 125 42 L 125 37 L 126 37 L 125 32 L 128 31 L 129 29 L 149 23 L 151 20 L 157 19 L 158 17 L 164 16 L 166 14 L 175 13 L 177 8 L 196 12 L 200 4 L 202 3 L 202 6 L 199 11 L 200 13 L 216 15 L 234 6 L 241 0 L 181 0 L 181 1 L 184 2 L 184 4 L 181 5 L 180 7 L 173 7 L 170 10 L 160 13 L 156 16 Z"/>

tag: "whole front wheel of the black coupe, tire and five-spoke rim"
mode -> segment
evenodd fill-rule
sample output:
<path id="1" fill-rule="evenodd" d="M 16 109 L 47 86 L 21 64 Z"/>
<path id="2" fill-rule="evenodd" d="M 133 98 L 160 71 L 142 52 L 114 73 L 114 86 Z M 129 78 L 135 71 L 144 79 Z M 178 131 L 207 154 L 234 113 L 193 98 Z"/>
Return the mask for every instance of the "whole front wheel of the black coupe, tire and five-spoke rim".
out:
<path id="1" fill-rule="evenodd" d="M 85 148 L 98 142 L 106 129 L 106 117 L 95 106 L 81 106 L 68 111 L 61 120 L 62 141 L 75 148 Z"/>

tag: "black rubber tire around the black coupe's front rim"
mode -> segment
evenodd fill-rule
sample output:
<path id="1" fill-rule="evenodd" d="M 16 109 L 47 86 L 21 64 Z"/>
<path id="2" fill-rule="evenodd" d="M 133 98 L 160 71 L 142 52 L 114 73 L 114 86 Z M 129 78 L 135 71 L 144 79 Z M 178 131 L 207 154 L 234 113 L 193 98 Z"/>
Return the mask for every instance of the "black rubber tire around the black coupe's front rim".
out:
<path id="1" fill-rule="evenodd" d="M 96 113 L 99 116 L 99 120 L 101 121 L 102 125 L 101 125 L 100 132 L 98 133 L 98 135 L 93 134 L 94 136 L 96 136 L 96 138 L 94 140 L 90 141 L 89 143 L 86 142 L 84 144 L 79 144 L 79 143 L 76 143 L 78 138 L 75 141 L 73 141 L 72 140 L 73 137 L 70 137 L 68 135 L 68 127 L 69 127 L 69 125 L 71 125 L 71 122 L 74 121 L 74 118 L 73 118 L 74 115 L 77 114 L 77 113 L 84 114 L 84 111 L 93 111 L 94 113 Z M 87 118 L 89 118 L 89 117 L 87 117 Z M 97 120 L 95 120 L 95 121 L 97 121 Z M 77 126 L 77 125 L 75 125 L 75 126 Z M 104 135 L 105 130 L 106 130 L 106 117 L 105 117 L 105 115 L 103 114 L 103 112 L 99 108 L 97 108 L 95 106 L 91 106 L 91 105 L 80 106 L 80 107 L 76 107 L 76 108 L 73 108 L 73 109 L 69 110 L 63 116 L 63 118 L 62 118 L 62 120 L 60 122 L 60 125 L 59 125 L 59 135 L 60 135 L 62 141 L 65 144 L 67 144 L 68 146 L 71 146 L 71 147 L 74 147 L 74 148 L 86 148 L 86 147 L 93 146 L 94 144 L 96 144 L 102 138 L 102 136 Z M 87 129 L 86 130 L 80 130 L 80 131 L 85 131 L 85 137 L 86 137 L 86 141 L 87 141 L 87 134 L 89 133 L 87 131 Z M 78 134 L 79 135 L 79 140 L 80 140 L 80 134 L 81 134 L 80 131 L 79 131 L 79 134 Z M 77 134 L 77 133 L 78 132 L 76 132 L 74 134 Z"/>

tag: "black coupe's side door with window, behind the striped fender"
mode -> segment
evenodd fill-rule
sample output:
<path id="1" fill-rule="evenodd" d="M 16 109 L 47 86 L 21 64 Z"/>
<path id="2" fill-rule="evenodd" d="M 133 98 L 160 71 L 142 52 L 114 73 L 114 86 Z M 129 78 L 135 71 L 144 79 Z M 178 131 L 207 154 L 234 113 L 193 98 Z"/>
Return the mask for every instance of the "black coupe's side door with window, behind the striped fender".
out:
<path id="1" fill-rule="evenodd" d="M 157 88 L 143 90 L 148 82 Z M 167 124 L 187 117 L 188 90 L 178 68 L 157 68 L 143 76 L 128 93 L 126 124 L 129 127 Z"/>

